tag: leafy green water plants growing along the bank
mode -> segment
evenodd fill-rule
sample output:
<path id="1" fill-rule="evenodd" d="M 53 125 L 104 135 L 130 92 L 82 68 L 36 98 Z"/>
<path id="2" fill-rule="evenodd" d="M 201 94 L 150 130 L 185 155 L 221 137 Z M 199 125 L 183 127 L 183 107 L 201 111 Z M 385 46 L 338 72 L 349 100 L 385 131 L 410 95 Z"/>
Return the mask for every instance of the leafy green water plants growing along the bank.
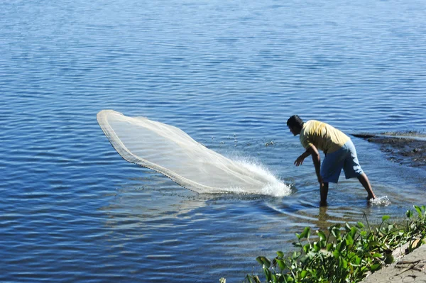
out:
<path id="1" fill-rule="evenodd" d="M 293 243 L 298 251 L 285 256 L 278 251 L 270 260 L 257 257 L 262 266 L 264 282 L 360 282 L 369 272 L 375 272 L 394 261 L 392 252 L 408 243 L 408 253 L 422 245 L 426 235 L 425 206 L 414 206 L 406 213 L 403 223 L 390 223 L 383 216 L 379 226 L 372 228 L 368 221 L 351 226 L 334 225 L 328 231 L 309 227 L 296 234 Z M 314 238 L 314 239 L 312 239 Z M 261 277 L 249 274 L 246 283 L 261 283 Z"/>

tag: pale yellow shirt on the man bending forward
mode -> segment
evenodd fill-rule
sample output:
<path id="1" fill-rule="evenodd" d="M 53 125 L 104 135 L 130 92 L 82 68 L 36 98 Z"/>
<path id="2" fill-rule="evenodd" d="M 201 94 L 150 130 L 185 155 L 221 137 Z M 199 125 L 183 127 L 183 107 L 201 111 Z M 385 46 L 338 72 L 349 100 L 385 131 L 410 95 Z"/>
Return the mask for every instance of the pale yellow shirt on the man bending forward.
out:
<path id="1" fill-rule="evenodd" d="M 303 124 L 300 131 L 300 143 L 308 149 L 312 145 L 324 153 L 331 153 L 342 146 L 350 138 L 333 126 L 320 121 L 310 120 Z"/>

